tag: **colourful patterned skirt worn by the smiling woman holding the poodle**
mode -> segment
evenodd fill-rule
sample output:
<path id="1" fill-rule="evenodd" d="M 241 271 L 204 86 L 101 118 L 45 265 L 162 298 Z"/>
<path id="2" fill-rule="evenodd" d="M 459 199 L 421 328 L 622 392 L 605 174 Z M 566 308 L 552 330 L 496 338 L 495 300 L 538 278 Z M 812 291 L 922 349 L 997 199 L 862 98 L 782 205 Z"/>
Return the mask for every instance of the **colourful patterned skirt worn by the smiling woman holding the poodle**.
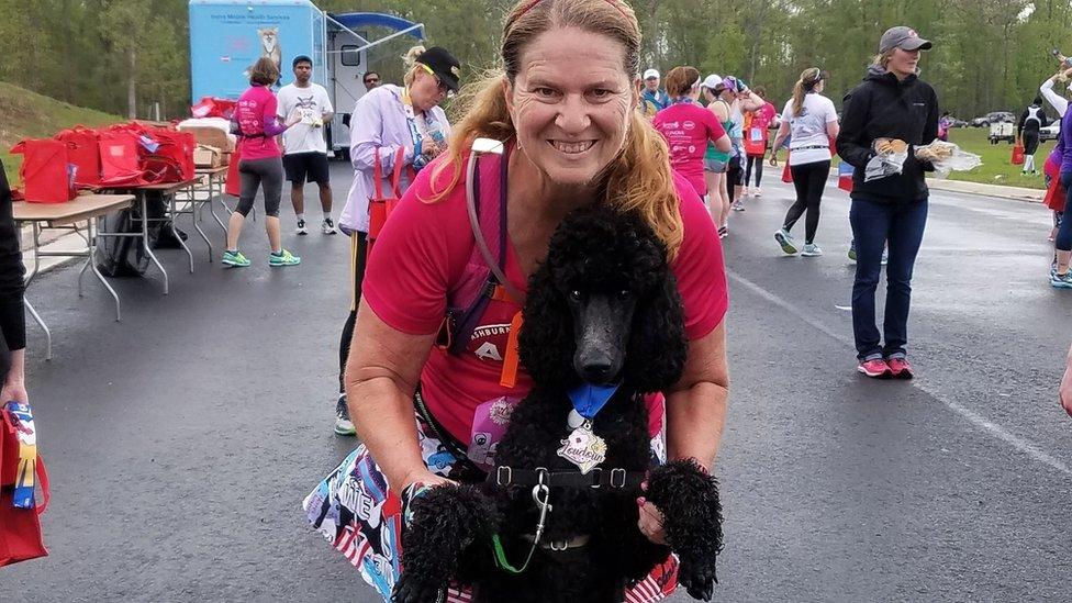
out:
<path id="1" fill-rule="evenodd" d="M 421 456 L 434 473 L 450 478 L 456 459 L 420 420 Z M 651 439 L 654 462 L 665 462 L 661 437 Z M 402 501 L 364 445 L 358 446 L 308 496 L 302 507 L 310 523 L 358 569 L 361 578 L 389 602 L 402 567 Z M 678 560 L 670 556 L 626 591 L 624 603 L 651 603 L 673 593 Z M 451 587 L 448 603 L 469 603 L 467 588 Z"/>

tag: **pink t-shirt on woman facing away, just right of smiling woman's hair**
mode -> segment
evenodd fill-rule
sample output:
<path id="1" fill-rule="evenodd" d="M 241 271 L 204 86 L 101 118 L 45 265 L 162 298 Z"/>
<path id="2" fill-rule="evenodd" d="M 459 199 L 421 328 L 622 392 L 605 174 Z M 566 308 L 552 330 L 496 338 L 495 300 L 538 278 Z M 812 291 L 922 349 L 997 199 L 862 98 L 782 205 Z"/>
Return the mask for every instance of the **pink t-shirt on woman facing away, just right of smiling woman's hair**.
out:
<path id="1" fill-rule="evenodd" d="M 651 125 L 670 145 L 670 165 L 684 176 L 700 197 L 707 194 L 703 179 L 703 155 L 707 141 L 726 135 L 718 119 L 699 104 L 679 102 L 659 111 Z"/>

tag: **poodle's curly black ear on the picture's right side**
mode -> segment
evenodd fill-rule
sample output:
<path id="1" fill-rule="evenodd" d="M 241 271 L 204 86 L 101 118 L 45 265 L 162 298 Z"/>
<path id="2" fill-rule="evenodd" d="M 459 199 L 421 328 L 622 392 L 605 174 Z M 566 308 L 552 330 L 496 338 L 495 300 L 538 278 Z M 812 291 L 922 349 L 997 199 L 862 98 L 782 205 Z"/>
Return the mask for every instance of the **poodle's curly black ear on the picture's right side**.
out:
<path id="1" fill-rule="evenodd" d="M 689 350 L 678 280 L 663 264 L 650 294 L 633 314 L 624 375 L 637 391 L 662 391 L 681 377 Z"/>

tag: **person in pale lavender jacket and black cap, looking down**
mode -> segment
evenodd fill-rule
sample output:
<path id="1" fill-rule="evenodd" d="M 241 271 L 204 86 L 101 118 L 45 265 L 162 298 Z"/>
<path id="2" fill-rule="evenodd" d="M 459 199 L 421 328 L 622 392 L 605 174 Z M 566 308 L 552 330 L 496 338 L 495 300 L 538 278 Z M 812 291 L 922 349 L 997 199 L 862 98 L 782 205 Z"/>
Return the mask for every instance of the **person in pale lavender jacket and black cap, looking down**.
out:
<path id="1" fill-rule="evenodd" d="M 458 59 L 444 48 L 422 46 L 405 57 L 404 87 L 387 83 L 369 90 L 358 101 L 350 118 L 350 163 L 354 182 L 338 226 L 350 237 L 350 313 L 343 325 L 338 343 L 338 399 L 335 405 L 335 433 L 354 435 L 354 424 L 346 409 L 343 371 L 349 357 L 350 339 L 361 299 L 365 259 L 368 247 L 369 199 L 376 196 L 373 172 L 377 159 L 384 176 L 380 189 L 391 190 L 390 176 L 399 149 L 405 167 L 400 188 L 409 188 L 412 175 L 447 148 L 450 124 L 439 108 L 447 94 L 458 90 L 461 69 Z"/>

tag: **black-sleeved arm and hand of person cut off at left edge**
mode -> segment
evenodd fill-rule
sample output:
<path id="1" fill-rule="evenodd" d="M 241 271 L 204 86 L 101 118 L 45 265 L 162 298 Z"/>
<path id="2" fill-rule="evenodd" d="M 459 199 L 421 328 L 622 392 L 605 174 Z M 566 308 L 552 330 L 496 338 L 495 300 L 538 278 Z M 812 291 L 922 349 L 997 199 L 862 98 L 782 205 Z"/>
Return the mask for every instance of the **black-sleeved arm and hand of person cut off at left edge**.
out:
<path id="1" fill-rule="evenodd" d="M 12 400 L 29 403 L 25 386 L 26 314 L 22 305 L 25 290 L 22 277 L 22 249 L 11 214 L 11 189 L 0 164 L 0 405 Z"/>

